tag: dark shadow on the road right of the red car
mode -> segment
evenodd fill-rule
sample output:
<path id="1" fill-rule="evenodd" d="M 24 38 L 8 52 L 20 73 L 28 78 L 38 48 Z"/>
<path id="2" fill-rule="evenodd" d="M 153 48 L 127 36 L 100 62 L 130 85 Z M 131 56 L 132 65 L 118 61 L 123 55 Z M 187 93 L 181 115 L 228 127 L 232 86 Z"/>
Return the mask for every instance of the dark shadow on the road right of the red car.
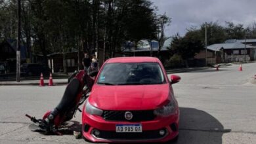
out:
<path id="1" fill-rule="evenodd" d="M 180 107 L 179 140 L 177 143 L 222 143 L 224 130 L 217 118 L 205 111 Z"/>

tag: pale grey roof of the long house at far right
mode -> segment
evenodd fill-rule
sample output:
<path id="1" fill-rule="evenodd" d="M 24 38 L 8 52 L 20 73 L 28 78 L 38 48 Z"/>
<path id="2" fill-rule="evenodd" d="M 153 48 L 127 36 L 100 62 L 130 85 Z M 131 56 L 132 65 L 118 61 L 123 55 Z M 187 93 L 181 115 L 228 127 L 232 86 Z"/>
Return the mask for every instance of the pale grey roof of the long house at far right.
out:
<path id="1" fill-rule="evenodd" d="M 213 50 L 213 51 L 219 51 L 219 50 L 221 50 L 221 48 L 223 48 L 224 50 L 226 50 L 226 49 L 241 49 L 241 48 L 245 48 L 245 45 L 242 43 L 218 43 L 218 44 L 207 46 L 208 50 Z M 246 48 L 254 48 L 254 47 L 246 45 Z"/>

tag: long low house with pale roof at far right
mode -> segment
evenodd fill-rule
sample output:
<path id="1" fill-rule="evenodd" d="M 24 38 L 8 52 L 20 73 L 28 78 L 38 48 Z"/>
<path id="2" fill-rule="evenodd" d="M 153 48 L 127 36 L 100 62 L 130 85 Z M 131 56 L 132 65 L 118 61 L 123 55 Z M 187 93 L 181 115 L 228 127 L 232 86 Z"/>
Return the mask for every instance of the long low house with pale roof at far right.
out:
<path id="1" fill-rule="evenodd" d="M 254 46 L 244 45 L 243 43 L 219 43 L 209 45 L 207 46 L 207 62 L 220 63 L 254 60 L 254 50 Z"/>

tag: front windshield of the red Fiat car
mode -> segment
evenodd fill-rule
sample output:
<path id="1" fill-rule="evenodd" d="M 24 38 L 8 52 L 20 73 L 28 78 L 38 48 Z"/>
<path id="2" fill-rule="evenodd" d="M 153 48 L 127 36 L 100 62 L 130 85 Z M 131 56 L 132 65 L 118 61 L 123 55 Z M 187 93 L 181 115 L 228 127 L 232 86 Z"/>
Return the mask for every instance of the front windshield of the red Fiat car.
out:
<path id="1" fill-rule="evenodd" d="M 97 83 L 105 85 L 163 84 L 165 79 L 158 63 L 106 63 Z"/>

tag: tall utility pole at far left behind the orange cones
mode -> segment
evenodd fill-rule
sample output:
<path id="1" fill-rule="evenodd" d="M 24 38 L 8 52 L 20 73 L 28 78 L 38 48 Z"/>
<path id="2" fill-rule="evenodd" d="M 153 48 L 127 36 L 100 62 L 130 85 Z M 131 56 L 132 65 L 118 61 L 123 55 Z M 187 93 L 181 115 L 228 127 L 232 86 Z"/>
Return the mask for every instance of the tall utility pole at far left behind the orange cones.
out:
<path id="1" fill-rule="evenodd" d="M 20 82 L 20 0 L 18 0 L 18 37 L 17 37 L 17 47 L 16 47 L 16 81 Z"/>

